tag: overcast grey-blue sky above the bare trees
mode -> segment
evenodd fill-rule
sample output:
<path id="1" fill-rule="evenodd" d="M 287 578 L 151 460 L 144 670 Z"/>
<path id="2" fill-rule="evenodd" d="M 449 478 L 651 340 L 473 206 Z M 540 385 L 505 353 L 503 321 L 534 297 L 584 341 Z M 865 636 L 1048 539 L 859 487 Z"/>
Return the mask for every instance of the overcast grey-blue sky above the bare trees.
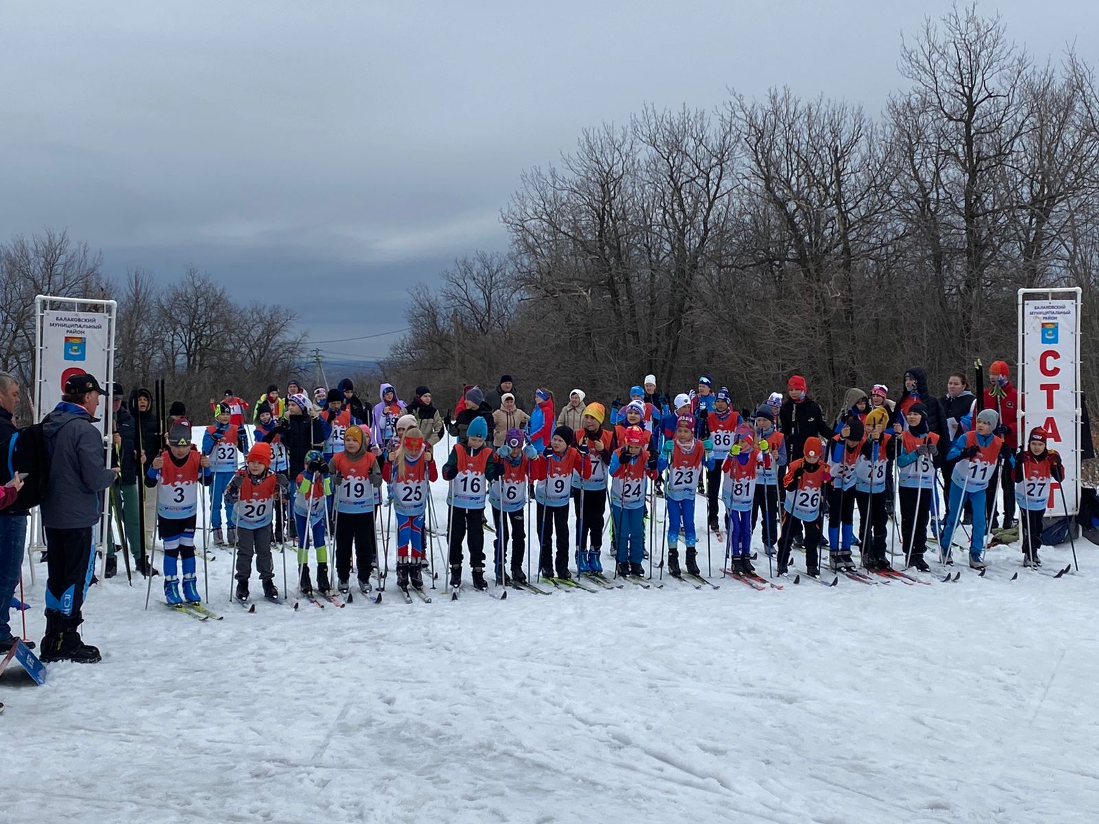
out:
<path id="1" fill-rule="evenodd" d="M 109 275 L 188 264 L 313 341 L 397 330 L 410 286 L 503 249 L 523 169 L 645 103 L 729 89 L 878 112 L 901 32 L 948 2 L 0 3 L 0 240 L 44 226 Z M 1041 59 L 1097 60 L 1099 3 L 1010 0 Z M 385 355 L 391 337 L 324 344 Z"/>

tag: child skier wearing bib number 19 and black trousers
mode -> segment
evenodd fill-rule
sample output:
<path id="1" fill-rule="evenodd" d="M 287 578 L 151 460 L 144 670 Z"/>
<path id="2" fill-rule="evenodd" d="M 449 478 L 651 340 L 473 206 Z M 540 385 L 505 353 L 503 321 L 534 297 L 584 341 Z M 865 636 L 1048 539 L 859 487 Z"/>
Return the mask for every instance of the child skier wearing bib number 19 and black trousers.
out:
<path id="1" fill-rule="evenodd" d="M 334 400 L 329 396 L 329 408 Z M 381 467 L 367 448 L 363 427 L 352 424 L 343 433 L 343 448 L 329 460 L 335 478 L 336 588 L 346 594 L 351 577 L 351 549 L 355 545 L 355 569 L 359 592 L 370 591 L 370 569 L 378 557 L 374 532 L 375 490 L 381 486 Z"/>

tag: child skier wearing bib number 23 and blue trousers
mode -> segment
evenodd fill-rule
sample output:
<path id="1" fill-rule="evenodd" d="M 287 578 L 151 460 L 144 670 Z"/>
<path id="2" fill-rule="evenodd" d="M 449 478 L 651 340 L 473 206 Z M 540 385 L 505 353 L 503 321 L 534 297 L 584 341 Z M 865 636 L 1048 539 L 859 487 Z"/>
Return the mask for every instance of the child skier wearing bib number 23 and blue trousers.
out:
<path id="1" fill-rule="evenodd" d="M 713 469 L 712 450 L 712 442 L 695 437 L 695 415 L 680 415 L 675 439 L 664 442 L 656 463 L 657 472 L 668 472 L 664 500 L 668 516 L 668 572 L 674 578 L 682 575 L 677 544 L 680 523 L 687 545 L 687 572 L 699 575 L 695 548 L 698 543 L 695 534 L 695 489 L 702 472 Z"/>

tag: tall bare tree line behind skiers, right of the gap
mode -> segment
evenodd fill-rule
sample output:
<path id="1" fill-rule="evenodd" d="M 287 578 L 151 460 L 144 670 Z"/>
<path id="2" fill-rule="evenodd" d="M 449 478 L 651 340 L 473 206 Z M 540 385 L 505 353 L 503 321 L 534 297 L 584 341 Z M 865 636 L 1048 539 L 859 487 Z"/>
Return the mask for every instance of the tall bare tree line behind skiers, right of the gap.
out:
<path id="1" fill-rule="evenodd" d="M 907 85 L 877 116 L 774 89 L 585 131 L 522 175 L 508 253 L 413 289 L 385 377 L 449 403 L 503 372 L 612 398 L 707 371 L 751 405 L 801 372 L 834 409 L 913 365 L 941 393 L 976 357 L 1013 364 L 1017 290 L 1076 286 L 1090 366 L 1091 68 L 1072 49 L 1036 64 L 975 7 L 903 37 L 898 67 Z"/>

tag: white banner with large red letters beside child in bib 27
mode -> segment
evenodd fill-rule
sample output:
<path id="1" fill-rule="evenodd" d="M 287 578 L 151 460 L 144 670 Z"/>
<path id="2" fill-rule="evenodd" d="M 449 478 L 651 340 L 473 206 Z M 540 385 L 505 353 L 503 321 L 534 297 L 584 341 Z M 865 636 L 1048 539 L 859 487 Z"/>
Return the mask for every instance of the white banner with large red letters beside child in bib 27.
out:
<path id="1" fill-rule="evenodd" d="M 1024 412 L 1019 444 L 1032 428 L 1046 431 L 1047 445 L 1065 464 L 1065 503 L 1069 514 L 1079 509 L 1080 449 L 1078 430 L 1079 300 L 1026 300 L 1020 313 L 1022 397 Z M 1050 490 L 1050 514 L 1062 514 L 1061 491 Z"/>

